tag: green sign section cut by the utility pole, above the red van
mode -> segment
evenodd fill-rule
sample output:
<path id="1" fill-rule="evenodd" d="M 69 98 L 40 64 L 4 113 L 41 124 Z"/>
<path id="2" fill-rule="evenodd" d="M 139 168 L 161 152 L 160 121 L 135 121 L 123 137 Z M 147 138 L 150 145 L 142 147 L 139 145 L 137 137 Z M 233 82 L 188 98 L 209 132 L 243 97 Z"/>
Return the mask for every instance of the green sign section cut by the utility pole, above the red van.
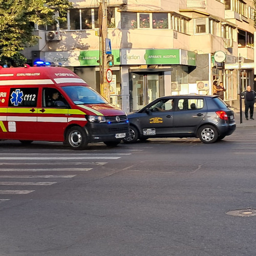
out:
<path id="1" fill-rule="evenodd" d="M 112 54 L 114 55 L 114 65 L 120 65 L 119 50 L 112 50 Z M 78 56 L 80 66 L 99 66 L 98 59 L 99 51 L 80 51 Z"/>

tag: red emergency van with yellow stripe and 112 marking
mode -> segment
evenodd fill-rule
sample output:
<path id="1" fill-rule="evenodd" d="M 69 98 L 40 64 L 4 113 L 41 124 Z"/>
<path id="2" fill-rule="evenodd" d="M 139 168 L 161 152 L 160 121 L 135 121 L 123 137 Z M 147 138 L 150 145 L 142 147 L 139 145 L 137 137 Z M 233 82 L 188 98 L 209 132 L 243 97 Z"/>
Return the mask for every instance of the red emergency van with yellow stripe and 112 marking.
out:
<path id="1" fill-rule="evenodd" d="M 126 114 L 67 68 L 0 69 L 0 140 L 117 145 L 129 134 Z"/>

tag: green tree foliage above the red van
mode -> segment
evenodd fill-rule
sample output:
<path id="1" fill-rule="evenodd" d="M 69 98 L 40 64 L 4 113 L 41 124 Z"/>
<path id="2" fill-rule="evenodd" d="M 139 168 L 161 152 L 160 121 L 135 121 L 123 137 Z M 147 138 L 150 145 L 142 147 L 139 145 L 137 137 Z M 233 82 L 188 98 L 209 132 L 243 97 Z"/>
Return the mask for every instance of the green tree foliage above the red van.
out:
<path id="1" fill-rule="evenodd" d="M 0 0 L 0 65 L 25 63 L 20 51 L 37 44 L 34 24 L 56 23 L 54 10 L 65 19 L 69 7 L 68 0 Z"/>

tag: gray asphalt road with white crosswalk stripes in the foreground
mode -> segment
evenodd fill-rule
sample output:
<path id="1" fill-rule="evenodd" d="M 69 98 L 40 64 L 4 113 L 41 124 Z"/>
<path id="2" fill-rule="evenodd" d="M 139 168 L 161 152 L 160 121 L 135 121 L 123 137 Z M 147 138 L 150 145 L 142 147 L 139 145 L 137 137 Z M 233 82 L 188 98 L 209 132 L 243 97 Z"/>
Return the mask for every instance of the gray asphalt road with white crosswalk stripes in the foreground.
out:
<path id="1" fill-rule="evenodd" d="M 255 129 L 81 152 L 0 141 L 0 255 L 256 255 L 255 156 Z"/>

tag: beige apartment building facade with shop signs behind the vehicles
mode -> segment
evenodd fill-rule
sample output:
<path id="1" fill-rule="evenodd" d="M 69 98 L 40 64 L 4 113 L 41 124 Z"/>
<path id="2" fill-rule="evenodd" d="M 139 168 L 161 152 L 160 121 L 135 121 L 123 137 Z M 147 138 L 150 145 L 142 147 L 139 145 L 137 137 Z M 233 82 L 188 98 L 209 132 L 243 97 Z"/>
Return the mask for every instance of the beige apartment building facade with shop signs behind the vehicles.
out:
<path id="1" fill-rule="evenodd" d="M 41 39 L 25 56 L 60 62 L 100 92 L 98 9 L 98 2 L 74 0 L 67 22 L 36 26 Z M 242 90 L 253 88 L 252 1 L 110 0 L 106 11 L 111 101 L 126 113 L 164 95 L 212 94 L 215 80 L 236 108 L 240 82 Z"/>

